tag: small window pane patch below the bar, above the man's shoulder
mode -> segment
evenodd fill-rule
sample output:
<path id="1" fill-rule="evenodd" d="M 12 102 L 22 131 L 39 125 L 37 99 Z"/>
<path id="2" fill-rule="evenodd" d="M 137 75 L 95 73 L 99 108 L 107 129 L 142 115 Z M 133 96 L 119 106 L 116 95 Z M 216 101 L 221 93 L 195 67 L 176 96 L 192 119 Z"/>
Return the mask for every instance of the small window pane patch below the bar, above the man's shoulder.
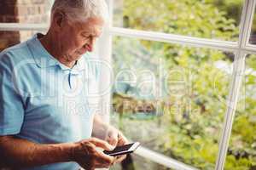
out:
<path id="1" fill-rule="evenodd" d="M 38 31 L 0 31 L 0 52 L 31 38 Z"/>

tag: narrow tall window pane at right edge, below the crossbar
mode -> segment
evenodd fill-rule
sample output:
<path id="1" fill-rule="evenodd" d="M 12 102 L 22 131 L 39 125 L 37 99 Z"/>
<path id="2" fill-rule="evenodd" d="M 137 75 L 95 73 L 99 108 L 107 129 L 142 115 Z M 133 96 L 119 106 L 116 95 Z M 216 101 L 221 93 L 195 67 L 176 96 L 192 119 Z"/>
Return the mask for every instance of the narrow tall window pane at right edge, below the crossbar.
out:
<path id="1" fill-rule="evenodd" d="M 256 169 L 256 55 L 246 59 L 225 169 Z M 235 168 L 236 167 L 236 168 Z"/>

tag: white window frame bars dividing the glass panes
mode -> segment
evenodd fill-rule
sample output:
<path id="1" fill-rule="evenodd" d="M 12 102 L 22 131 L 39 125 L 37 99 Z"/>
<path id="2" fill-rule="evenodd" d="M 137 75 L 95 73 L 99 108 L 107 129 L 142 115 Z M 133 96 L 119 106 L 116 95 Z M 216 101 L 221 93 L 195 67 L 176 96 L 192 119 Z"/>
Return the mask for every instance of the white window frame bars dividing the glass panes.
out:
<path id="1" fill-rule="evenodd" d="M 229 51 L 235 54 L 234 69 L 232 79 L 230 82 L 230 92 L 227 99 L 228 107 L 225 111 L 224 125 L 222 128 L 221 139 L 219 140 L 218 158 L 215 166 L 215 170 L 223 170 L 225 157 L 227 155 L 227 150 L 230 141 L 232 124 L 236 113 L 237 100 L 240 94 L 246 55 L 256 54 L 256 47 L 252 44 L 249 44 L 249 37 L 251 33 L 251 27 L 253 24 L 253 15 L 256 0 L 245 0 L 241 14 L 241 24 L 238 42 L 227 42 L 207 38 L 188 37 L 175 34 L 160 33 L 154 31 L 137 31 L 132 29 L 113 27 L 113 0 L 106 1 L 108 3 L 111 20 L 108 23 L 108 26 L 104 31 L 104 34 L 98 42 L 98 48 L 96 49 L 96 51 L 99 56 L 104 56 L 103 59 L 108 63 L 112 63 L 112 38 L 114 36 L 135 37 L 143 40 L 150 40 L 156 42 L 167 42 L 187 45 L 191 47 L 219 49 L 223 51 Z M 41 24 L 0 23 L 0 31 L 47 31 L 47 29 L 47 25 Z M 104 77 L 102 77 L 102 81 L 105 82 L 106 79 L 110 78 L 111 75 L 108 75 L 108 73 L 106 73 L 106 75 L 104 74 Z M 106 87 L 104 87 L 104 84 L 102 83 L 102 86 L 100 88 L 105 89 Z M 102 100 L 104 100 L 105 104 L 107 103 L 110 106 L 111 94 L 109 93 L 108 95 L 105 95 Z M 109 122 L 109 113 L 110 110 L 108 110 L 105 116 L 107 122 Z M 137 155 L 143 156 L 148 160 L 160 163 L 163 166 L 170 167 L 173 169 L 196 169 L 195 167 L 186 165 L 183 162 L 174 160 L 167 156 L 163 156 L 160 153 L 148 150 L 143 147 L 137 150 L 136 153 Z"/>

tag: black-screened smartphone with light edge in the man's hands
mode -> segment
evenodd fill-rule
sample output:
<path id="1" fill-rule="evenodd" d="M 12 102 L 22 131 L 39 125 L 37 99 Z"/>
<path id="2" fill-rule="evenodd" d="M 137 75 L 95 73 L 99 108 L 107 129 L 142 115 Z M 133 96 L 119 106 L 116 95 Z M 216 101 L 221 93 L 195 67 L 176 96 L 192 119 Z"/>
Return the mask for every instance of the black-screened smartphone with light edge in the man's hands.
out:
<path id="1" fill-rule="evenodd" d="M 140 145 L 139 142 L 135 142 L 135 143 L 131 143 L 131 144 L 117 146 L 115 149 L 110 150 L 110 151 L 104 150 L 103 152 L 104 152 L 104 154 L 107 154 L 108 156 L 120 156 L 120 155 L 132 153 L 133 151 L 137 150 L 139 145 Z"/>

